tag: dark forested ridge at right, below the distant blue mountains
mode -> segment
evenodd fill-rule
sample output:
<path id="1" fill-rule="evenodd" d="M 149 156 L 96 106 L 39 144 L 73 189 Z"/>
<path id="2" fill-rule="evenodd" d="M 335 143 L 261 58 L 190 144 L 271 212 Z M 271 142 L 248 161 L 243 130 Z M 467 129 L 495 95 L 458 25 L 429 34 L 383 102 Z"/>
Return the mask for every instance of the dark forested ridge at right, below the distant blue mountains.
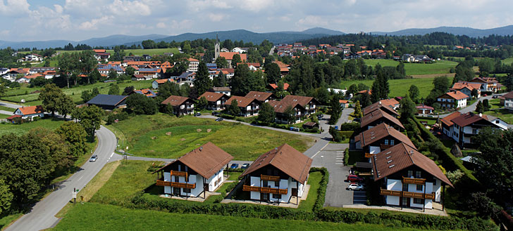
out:
<path id="1" fill-rule="evenodd" d="M 473 38 L 466 35 L 454 35 L 444 32 L 433 32 L 424 35 L 409 36 L 385 36 L 373 34 L 342 34 L 329 37 L 321 37 L 314 39 L 304 39 L 301 41 L 303 45 L 319 45 L 319 44 L 357 44 L 366 45 L 388 44 L 390 42 L 400 42 L 401 44 L 426 44 L 426 45 L 447 45 L 447 46 L 470 46 L 470 44 L 488 46 L 500 46 L 513 44 L 513 36 L 497 36 L 490 35 L 488 37 Z"/>

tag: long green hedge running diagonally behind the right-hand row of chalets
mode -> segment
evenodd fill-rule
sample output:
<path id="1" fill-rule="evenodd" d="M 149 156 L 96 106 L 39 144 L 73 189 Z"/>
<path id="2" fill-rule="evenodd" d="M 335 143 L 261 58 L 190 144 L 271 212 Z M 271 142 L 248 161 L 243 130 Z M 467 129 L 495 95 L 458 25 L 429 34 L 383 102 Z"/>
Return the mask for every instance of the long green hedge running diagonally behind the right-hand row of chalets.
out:
<path id="1" fill-rule="evenodd" d="M 438 138 L 436 138 L 431 132 L 429 132 L 424 126 L 422 126 L 418 119 L 414 119 L 414 121 L 416 125 L 419 127 L 419 130 L 421 131 L 421 136 L 422 138 L 424 138 L 425 141 L 431 140 L 431 142 L 437 142 L 443 146 L 443 143 Z M 440 159 L 442 159 L 443 167 L 445 169 L 450 171 L 455 171 L 456 169 L 459 169 L 463 173 L 465 173 L 464 177 L 469 178 L 469 180 L 476 183 L 476 185 L 481 185 L 479 180 L 477 180 L 477 178 L 474 175 L 472 175 L 472 172 L 469 171 L 469 169 L 466 169 L 466 167 L 463 166 L 463 164 L 459 162 L 459 160 L 452 153 L 450 153 L 450 151 L 447 150 L 447 148 L 443 148 L 443 152 L 438 153 L 438 155 Z"/>

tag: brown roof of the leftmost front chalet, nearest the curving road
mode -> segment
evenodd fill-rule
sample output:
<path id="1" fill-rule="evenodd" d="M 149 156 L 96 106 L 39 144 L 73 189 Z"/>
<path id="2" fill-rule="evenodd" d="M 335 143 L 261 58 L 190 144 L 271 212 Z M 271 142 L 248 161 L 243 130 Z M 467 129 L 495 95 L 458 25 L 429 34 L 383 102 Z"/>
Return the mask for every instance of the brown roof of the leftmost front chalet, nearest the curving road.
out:
<path id="1" fill-rule="evenodd" d="M 211 176 L 214 176 L 214 173 L 223 169 L 223 167 L 232 159 L 232 155 L 228 154 L 228 152 L 225 152 L 221 148 L 209 142 L 195 150 L 187 152 L 187 154 L 175 159 L 175 161 L 182 162 L 199 175 L 208 179 Z M 167 164 L 166 166 L 175 163 L 175 161 Z M 163 166 L 157 171 L 161 171 L 166 168 L 166 166 Z M 154 171 L 154 173 L 157 171 Z"/>

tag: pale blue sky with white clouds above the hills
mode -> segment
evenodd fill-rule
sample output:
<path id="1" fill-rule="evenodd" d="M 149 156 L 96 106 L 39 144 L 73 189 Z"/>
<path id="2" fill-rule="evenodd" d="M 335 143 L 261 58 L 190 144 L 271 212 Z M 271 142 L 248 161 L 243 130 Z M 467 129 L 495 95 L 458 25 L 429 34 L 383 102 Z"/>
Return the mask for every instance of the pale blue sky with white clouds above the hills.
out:
<path id="1" fill-rule="evenodd" d="M 80 41 L 112 34 L 230 29 L 346 33 L 513 24 L 511 0 L 0 0 L 0 40 Z"/>

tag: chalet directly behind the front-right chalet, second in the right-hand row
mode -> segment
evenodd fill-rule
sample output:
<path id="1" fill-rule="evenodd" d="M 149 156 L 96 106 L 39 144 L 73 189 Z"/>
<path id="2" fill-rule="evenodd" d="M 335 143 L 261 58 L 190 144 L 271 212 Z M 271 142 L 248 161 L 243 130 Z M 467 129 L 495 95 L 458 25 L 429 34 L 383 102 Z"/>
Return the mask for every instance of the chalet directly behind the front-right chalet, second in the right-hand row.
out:
<path id="1" fill-rule="evenodd" d="M 366 158 L 370 158 L 379 152 L 404 143 L 416 150 L 412 140 L 408 136 L 400 133 L 400 131 L 388 126 L 387 124 L 378 124 L 367 131 L 360 133 L 354 137 L 354 143 L 357 149 L 363 149 Z"/>

